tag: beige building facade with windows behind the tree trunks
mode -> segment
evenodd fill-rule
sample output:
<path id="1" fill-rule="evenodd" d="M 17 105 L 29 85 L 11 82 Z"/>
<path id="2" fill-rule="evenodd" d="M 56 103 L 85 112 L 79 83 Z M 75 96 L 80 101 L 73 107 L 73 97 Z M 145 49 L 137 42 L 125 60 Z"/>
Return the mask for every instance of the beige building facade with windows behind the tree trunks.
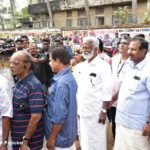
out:
<path id="1" fill-rule="evenodd" d="M 114 11 L 128 6 L 128 22 L 132 23 L 132 0 L 88 0 L 92 28 L 113 27 Z M 49 0 L 54 26 L 63 29 L 87 28 L 84 0 Z M 150 0 L 137 0 L 137 23 L 143 23 L 143 13 L 150 7 Z M 28 7 L 33 28 L 49 27 L 49 15 L 45 0 L 32 0 Z"/>

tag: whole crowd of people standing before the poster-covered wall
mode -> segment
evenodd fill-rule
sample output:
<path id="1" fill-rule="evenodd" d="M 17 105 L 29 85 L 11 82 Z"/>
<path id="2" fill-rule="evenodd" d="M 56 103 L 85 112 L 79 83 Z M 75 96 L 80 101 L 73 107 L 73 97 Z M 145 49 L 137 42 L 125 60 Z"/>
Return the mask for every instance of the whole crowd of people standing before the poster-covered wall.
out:
<path id="1" fill-rule="evenodd" d="M 107 150 L 110 122 L 114 150 L 150 150 L 147 40 L 69 42 L 0 39 L 0 150 Z"/>

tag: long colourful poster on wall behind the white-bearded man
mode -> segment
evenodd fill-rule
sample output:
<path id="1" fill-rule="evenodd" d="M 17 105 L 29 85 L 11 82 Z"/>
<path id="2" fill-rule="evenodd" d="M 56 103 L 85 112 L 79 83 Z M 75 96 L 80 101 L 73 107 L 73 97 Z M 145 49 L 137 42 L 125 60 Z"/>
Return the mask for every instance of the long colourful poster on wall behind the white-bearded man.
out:
<path id="1" fill-rule="evenodd" d="M 128 29 L 96 29 L 96 30 L 72 30 L 62 31 L 64 37 L 72 39 L 74 44 L 82 45 L 82 38 L 90 35 L 100 38 L 104 46 L 111 46 L 112 40 L 115 38 L 115 33 L 118 33 L 119 37 L 129 35 L 131 38 L 137 34 L 144 34 L 145 39 L 150 43 L 150 28 L 128 28 Z"/>

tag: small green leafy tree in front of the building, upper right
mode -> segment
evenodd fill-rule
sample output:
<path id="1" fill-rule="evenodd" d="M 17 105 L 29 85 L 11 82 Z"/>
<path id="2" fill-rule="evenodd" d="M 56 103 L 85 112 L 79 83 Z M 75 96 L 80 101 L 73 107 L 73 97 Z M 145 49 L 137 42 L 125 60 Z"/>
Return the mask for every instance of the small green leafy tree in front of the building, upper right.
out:
<path id="1" fill-rule="evenodd" d="M 119 7 L 118 10 L 114 11 L 114 16 L 118 25 L 128 23 L 128 7 Z"/>

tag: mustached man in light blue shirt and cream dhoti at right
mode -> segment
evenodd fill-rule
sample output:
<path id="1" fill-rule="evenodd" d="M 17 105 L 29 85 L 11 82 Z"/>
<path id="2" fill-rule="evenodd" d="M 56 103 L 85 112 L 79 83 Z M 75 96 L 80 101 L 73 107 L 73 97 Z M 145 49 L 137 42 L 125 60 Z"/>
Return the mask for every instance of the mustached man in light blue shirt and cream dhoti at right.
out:
<path id="1" fill-rule="evenodd" d="M 150 59 L 147 51 L 145 39 L 135 37 L 130 41 L 131 62 L 118 96 L 114 150 L 150 150 Z"/>

